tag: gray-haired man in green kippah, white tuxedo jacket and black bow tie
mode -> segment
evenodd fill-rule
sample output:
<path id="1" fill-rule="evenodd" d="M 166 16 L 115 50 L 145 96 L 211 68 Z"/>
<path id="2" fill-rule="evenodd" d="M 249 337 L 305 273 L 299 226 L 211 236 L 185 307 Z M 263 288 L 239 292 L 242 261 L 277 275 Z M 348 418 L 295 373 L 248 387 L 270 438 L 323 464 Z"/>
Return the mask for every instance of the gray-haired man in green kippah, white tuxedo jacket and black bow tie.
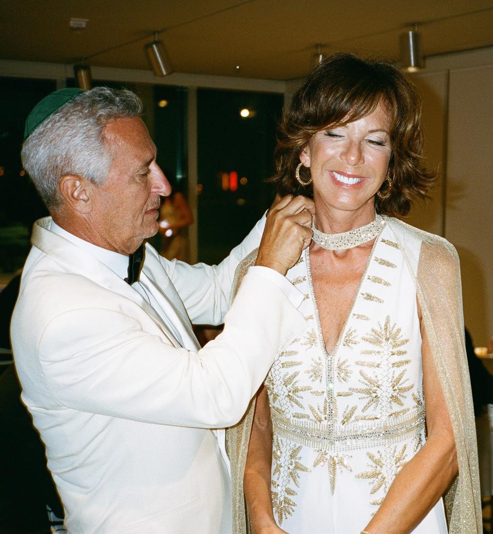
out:
<path id="1" fill-rule="evenodd" d="M 216 267 L 146 245 L 138 278 L 171 191 L 140 112 L 130 91 L 66 89 L 28 117 L 23 164 L 52 217 L 34 226 L 12 319 L 22 400 L 70 534 L 226 534 L 224 431 L 211 429 L 242 417 L 303 329 L 303 296 L 282 275 L 311 238 L 313 204 L 269 211 L 226 317 L 236 265 L 264 222 Z M 200 349 L 190 321 L 223 320 Z"/>

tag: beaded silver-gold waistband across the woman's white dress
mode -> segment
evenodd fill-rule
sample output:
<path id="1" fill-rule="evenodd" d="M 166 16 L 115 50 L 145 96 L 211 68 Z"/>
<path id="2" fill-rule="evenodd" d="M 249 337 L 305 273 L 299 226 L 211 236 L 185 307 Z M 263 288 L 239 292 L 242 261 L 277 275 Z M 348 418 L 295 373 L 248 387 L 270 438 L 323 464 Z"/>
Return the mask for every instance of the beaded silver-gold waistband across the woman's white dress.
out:
<path id="1" fill-rule="evenodd" d="M 425 411 L 413 409 L 397 418 L 353 422 L 345 426 L 293 421 L 271 412 L 274 435 L 317 450 L 347 451 L 387 445 L 418 437 L 425 430 Z"/>

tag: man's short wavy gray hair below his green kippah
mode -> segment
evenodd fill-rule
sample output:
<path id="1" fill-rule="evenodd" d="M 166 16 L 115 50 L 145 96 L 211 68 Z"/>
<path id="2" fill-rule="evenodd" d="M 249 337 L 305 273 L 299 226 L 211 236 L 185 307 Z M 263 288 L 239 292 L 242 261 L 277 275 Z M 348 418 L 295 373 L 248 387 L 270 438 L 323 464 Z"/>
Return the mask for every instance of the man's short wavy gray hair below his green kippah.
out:
<path id="1" fill-rule="evenodd" d="M 132 91 L 96 87 L 75 96 L 39 124 L 22 145 L 21 156 L 48 209 L 61 206 L 58 184 L 62 176 L 104 182 L 113 159 L 105 126 L 141 113 L 142 103 Z"/>

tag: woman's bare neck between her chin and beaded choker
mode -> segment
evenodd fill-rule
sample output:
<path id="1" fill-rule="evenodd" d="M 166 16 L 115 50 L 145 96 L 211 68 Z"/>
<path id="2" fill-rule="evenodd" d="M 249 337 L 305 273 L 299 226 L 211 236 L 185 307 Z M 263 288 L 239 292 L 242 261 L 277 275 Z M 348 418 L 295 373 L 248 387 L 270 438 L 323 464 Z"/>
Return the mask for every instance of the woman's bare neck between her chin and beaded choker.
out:
<path id="1" fill-rule="evenodd" d="M 315 202 L 315 228 L 323 233 L 348 232 L 375 220 L 375 207 L 368 203 L 354 211 L 345 211 L 317 205 Z"/>

